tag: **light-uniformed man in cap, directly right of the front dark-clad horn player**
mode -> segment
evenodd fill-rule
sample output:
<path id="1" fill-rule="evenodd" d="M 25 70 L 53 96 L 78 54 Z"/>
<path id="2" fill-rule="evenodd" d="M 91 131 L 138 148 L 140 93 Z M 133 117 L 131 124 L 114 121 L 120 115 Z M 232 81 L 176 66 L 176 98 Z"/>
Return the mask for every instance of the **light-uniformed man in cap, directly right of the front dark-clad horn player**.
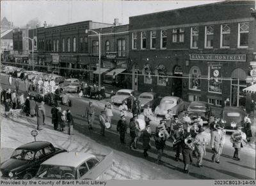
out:
<path id="1" fill-rule="evenodd" d="M 197 163 L 196 163 L 198 168 L 202 168 L 203 157 L 206 154 L 205 143 L 206 143 L 206 139 L 204 135 L 204 129 L 200 128 L 198 130 L 198 134 L 196 134 L 195 143 L 194 143 L 196 153 L 198 154 Z"/>

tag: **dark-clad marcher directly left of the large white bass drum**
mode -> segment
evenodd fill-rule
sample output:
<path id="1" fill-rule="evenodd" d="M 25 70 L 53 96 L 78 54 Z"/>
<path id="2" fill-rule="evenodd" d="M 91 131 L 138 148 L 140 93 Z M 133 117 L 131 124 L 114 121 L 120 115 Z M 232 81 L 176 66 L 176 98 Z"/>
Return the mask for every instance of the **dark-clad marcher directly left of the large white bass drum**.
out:
<path id="1" fill-rule="evenodd" d="M 138 115 L 133 115 L 133 118 L 130 120 L 130 136 L 131 136 L 131 143 L 130 148 L 137 149 L 137 141 L 138 141 L 138 134 L 140 129 L 138 124 L 136 124 L 136 120 L 138 119 Z"/>

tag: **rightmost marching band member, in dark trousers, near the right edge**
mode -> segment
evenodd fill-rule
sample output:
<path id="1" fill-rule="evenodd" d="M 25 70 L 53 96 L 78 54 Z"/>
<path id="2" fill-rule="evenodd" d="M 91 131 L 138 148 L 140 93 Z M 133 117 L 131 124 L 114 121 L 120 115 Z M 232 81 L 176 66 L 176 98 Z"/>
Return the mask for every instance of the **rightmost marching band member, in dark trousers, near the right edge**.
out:
<path id="1" fill-rule="evenodd" d="M 243 139 L 244 138 L 244 139 Z M 244 147 L 243 141 L 246 139 L 246 134 L 242 132 L 241 124 L 237 124 L 237 130 L 231 135 L 231 140 L 233 142 L 233 147 L 235 148 L 234 159 L 240 161 L 240 150 Z"/>

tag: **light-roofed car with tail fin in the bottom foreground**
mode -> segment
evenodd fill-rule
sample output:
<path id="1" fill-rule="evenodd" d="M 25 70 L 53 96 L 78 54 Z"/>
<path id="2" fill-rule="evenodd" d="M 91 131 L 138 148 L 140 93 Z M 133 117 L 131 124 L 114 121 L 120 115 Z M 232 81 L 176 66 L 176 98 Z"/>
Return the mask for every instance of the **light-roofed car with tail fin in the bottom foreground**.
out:
<path id="1" fill-rule="evenodd" d="M 96 157 L 84 152 L 63 152 L 43 162 L 35 179 L 95 180 L 113 164 L 113 152 Z"/>

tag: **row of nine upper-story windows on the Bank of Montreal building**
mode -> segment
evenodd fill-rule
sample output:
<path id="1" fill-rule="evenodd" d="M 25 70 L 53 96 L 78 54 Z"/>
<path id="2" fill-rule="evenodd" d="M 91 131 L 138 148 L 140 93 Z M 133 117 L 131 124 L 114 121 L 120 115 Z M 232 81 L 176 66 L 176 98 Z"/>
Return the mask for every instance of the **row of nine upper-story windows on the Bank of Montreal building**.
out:
<path id="1" fill-rule="evenodd" d="M 204 47 L 213 48 L 214 43 L 214 25 L 205 26 L 204 32 Z M 221 24 L 220 29 L 220 48 L 230 48 L 230 24 Z M 247 48 L 249 36 L 249 23 L 243 22 L 238 24 L 237 47 Z M 199 27 L 191 27 L 190 29 L 190 48 L 198 48 Z M 150 31 L 150 49 L 156 49 L 156 31 Z M 132 49 L 137 49 L 137 32 L 132 32 Z M 141 49 L 146 49 L 147 33 L 140 32 Z M 172 29 L 172 43 L 184 42 L 184 28 Z M 166 49 L 167 45 L 167 31 L 161 30 L 160 48 Z"/>

